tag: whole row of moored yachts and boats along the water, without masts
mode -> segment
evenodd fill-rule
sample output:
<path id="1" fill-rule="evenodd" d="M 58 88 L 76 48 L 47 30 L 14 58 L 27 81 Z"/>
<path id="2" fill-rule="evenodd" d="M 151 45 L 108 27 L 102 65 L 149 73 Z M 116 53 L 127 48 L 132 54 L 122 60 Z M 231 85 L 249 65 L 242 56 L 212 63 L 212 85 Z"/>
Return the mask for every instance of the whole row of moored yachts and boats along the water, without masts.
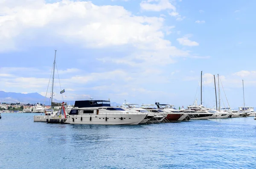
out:
<path id="1" fill-rule="evenodd" d="M 154 106 L 157 106 L 154 108 Z M 174 105 L 155 103 L 155 105 L 124 103 L 112 107 L 107 100 L 80 100 L 74 107 L 64 105 L 57 112 L 45 112 L 34 116 L 34 122 L 70 123 L 70 124 L 104 124 L 104 125 L 137 125 L 142 123 L 176 122 L 210 118 L 247 117 L 255 112 L 217 111 L 197 105 L 196 102 L 187 109 L 175 109 Z"/>

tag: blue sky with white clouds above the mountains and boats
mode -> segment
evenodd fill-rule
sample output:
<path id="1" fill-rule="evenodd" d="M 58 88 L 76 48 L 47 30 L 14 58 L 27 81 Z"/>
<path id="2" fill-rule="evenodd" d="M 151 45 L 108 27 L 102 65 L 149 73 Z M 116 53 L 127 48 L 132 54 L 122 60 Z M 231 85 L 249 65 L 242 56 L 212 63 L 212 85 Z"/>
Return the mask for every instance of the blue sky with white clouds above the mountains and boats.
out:
<path id="1" fill-rule="evenodd" d="M 57 50 L 58 100 L 65 89 L 64 100 L 186 107 L 200 104 L 203 71 L 204 106 L 215 106 L 217 74 L 221 107 L 242 106 L 243 98 L 256 106 L 255 6 L 255 0 L 0 0 L 0 90 L 49 97 Z"/>

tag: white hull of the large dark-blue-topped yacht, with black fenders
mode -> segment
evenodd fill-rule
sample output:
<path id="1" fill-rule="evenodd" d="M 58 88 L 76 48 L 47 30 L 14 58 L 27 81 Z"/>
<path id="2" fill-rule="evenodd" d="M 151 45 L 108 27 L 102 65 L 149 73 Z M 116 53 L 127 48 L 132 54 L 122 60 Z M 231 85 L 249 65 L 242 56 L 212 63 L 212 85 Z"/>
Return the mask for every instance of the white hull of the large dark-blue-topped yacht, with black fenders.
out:
<path id="1" fill-rule="evenodd" d="M 143 121 L 145 117 L 146 115 L 70 115 L 67 118 L 65 123 L 103 124 L 103 125 L 120 125 L 120 124 L 137 125 L 141 121 Z"/>

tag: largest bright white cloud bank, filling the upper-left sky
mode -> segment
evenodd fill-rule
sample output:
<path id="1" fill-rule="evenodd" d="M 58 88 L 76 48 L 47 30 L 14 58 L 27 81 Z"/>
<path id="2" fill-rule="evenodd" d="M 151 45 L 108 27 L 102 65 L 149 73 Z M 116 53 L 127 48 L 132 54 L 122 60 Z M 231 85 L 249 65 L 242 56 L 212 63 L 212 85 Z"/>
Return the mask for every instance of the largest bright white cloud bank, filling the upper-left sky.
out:
<path id="1" fill-rule="evenodd" d="M 160 31 L 163 18 L 134 16 L 122 6 L 96 6 L 72 0 L 22 2 L 8 5 L 11 2 L 4 1 L 0 6 L 0 32 L 4 32 L 0 36 L 0 52 L 34 43 L 55 46 L 62 41 L 99 48 L 125 44 L 140 46 L 163 38 Z M 36 40 L 38 38 L 40 40 Z M 27 43 L 21 43 L 20 39 Z"/>

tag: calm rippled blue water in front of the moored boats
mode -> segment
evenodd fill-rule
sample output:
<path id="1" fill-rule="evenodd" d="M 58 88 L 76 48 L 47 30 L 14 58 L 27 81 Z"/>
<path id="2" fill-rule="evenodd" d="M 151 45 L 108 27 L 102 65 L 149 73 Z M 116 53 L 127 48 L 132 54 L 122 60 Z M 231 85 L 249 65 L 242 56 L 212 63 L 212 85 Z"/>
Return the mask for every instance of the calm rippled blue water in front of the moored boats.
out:
<path id="1" fill-rule="evenodd" d="M 256 120 L 137 126 L 34 123 L 2 113 L 0 169 L 256 168 Z"/>

